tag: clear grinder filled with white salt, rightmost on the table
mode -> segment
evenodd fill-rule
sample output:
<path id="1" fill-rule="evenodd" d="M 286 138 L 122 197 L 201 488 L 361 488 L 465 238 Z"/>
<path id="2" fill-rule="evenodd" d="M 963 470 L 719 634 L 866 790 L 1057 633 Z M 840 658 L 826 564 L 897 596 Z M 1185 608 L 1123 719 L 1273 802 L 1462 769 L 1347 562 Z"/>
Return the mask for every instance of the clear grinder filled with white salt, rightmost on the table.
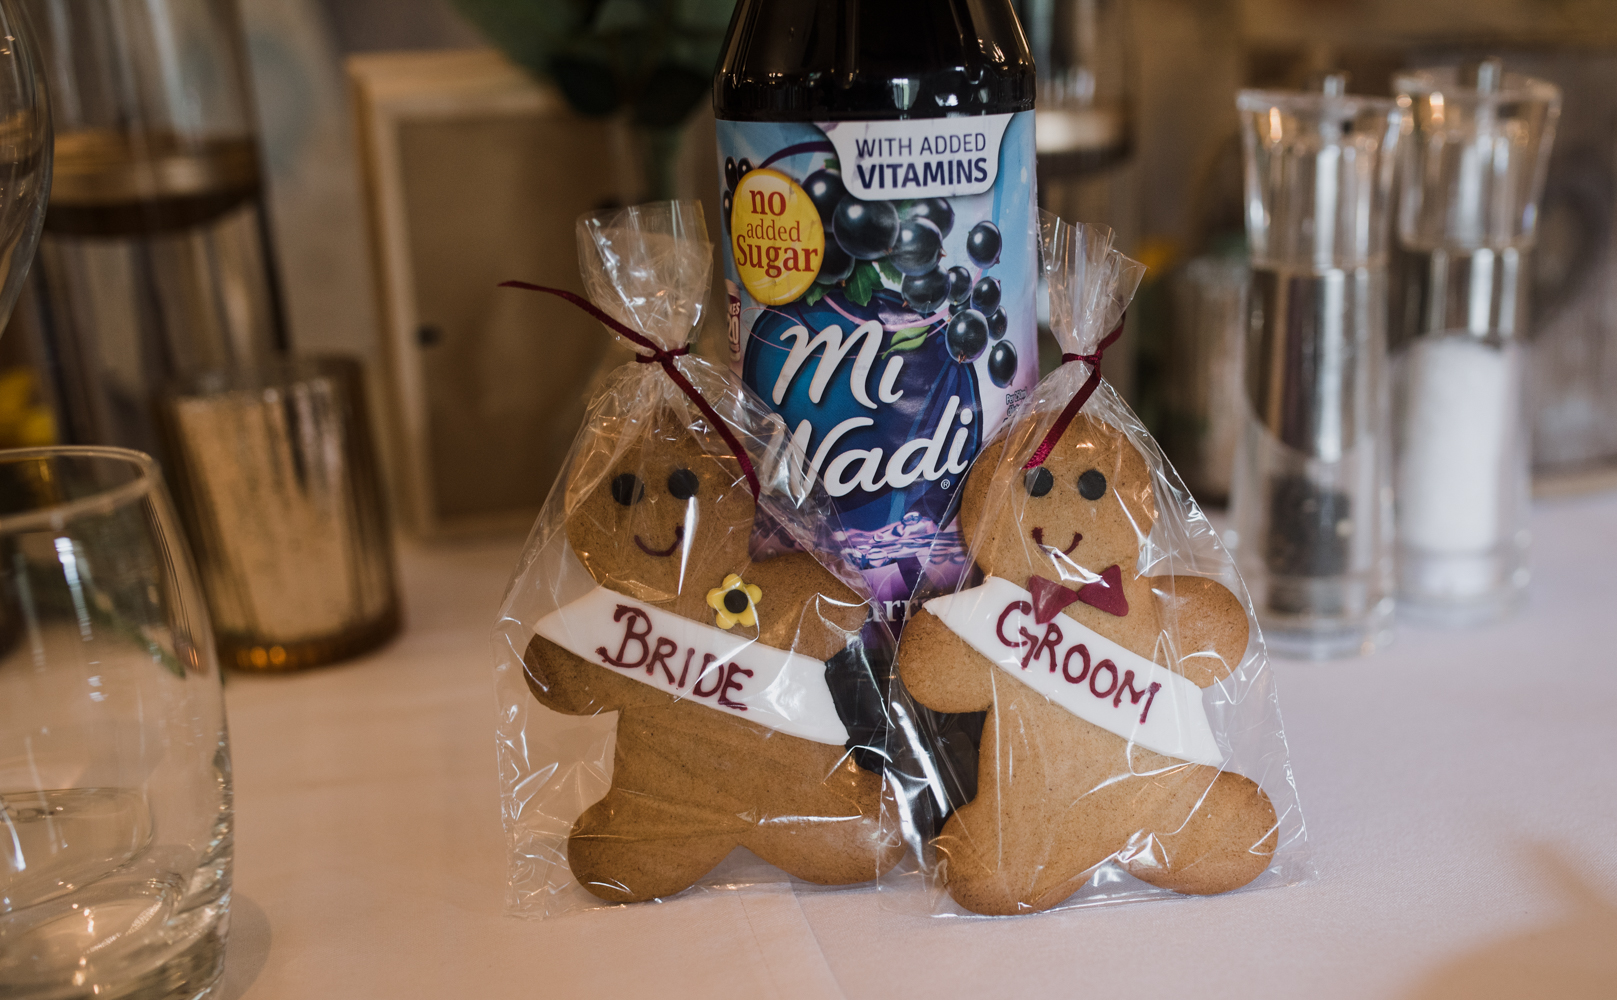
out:
<path id="1" fill-rule="evenodd" d="M 1394 275 L 1399 607 L 1467 623 L 1526 586 L 1528 434 L 1522 405 L 1528 254 L 1560 94 L 1497 60 L 1395 81 L 1400 146 Z"/>

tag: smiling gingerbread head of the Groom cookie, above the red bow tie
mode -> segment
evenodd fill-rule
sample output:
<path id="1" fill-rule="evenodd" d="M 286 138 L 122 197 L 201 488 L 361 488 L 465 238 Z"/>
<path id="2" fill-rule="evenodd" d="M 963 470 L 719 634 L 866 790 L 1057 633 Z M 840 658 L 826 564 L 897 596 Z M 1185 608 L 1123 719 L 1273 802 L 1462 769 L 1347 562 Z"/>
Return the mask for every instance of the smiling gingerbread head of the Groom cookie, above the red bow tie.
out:
<path id="1" fill-rule="evenodd" d="M 1032 429 L 1012 430 L 1012 447 Z M 1035 576 L 1083 584 L 1108 566 L 1134 574 L 1156 523 L 1156 495 L 1145 456 L 1121 429 L 1079 414 L 1035 469 L 999 468 L 1004 447 L 983 451 L 960 497 L 960 528 L 978 539 L 985 573 L 1020 587 Z"/>

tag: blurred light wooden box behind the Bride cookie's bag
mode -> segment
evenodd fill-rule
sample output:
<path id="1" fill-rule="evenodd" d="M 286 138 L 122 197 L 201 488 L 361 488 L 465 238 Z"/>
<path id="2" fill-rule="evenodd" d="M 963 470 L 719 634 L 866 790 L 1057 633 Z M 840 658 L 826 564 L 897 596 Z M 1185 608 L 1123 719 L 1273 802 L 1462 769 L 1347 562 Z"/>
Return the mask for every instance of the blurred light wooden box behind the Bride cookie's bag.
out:
<path id="1" fill-rule="evenodd" d="M 618 197 L 624 157 L 610 125 L 493 50 L 357 55 L 348 78 L 395 508 L 422 537 L 526 528 L 611 338 L 561 299 L 496 285 L 582 293 L 574 220 Z"/>

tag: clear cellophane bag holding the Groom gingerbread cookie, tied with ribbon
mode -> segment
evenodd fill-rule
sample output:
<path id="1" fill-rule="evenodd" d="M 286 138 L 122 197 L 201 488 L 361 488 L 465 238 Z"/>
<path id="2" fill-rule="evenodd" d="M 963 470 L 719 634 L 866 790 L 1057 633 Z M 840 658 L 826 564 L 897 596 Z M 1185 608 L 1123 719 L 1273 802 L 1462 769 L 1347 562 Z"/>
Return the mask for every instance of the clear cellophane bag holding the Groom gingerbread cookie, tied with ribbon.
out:
<path id="1" fill-rule="evenodd" d="M 972 573 L 917 594 L 893 670 L 896 718 L 982 714 L 977 769 L 894 764 L 918 866 L 884 875 L 884 900 L 999 916 L 1297 882 L 1307 833 L 1252 600 L 1098 375 L 1145 269 L 1104 227 L 1041 228 L 1064 362 L 980 451 Z"/>

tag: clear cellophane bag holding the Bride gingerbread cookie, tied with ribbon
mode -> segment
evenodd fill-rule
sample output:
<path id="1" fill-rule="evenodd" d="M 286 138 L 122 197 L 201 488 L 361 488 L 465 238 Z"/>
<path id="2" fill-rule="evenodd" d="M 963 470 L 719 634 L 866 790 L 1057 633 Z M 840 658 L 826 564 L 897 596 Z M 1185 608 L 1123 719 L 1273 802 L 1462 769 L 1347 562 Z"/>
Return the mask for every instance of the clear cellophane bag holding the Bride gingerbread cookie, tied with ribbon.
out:
<path id="1" fill-rule="evenodd" d="M 784 424 L 686 353 L 697 202 L 587 215 L 590 309 L 639 353 L 590 400 L 495 633 L 513 913 L 870 882 L 891 638 Z"/>

